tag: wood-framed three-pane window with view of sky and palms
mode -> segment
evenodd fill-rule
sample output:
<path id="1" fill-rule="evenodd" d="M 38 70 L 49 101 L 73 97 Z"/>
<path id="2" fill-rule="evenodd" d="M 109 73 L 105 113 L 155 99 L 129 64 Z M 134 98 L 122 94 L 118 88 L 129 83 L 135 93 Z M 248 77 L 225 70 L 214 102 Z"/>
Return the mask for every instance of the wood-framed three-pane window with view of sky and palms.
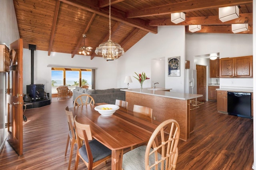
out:
<path id="1" fill-rule="evenodd" d="M 95 69 L 52 68 L 52 94 L 57 93 L 58 86 L 66 85 L 70 90 L 88 85 L 95 87 Z"/>

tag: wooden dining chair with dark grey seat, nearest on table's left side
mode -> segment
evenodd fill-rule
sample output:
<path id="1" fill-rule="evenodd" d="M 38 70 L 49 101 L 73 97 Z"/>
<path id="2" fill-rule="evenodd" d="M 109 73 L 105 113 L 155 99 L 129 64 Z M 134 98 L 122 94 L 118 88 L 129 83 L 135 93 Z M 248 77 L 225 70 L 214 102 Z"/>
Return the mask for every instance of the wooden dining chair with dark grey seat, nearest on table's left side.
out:
<path id="1" fill-rule="evenodd" d="M 88 170 L 92 170 L 98 165 L 102 164 L 112 156 L 112 151 L 98 142 L 96 139 L 92 139 L 92 133 L 90 125 L 78 123 L 76 116 L 74 118 L 76 139 L 78 141 L 78 147 L 76 152 L 76 165 L 75 169 L 78 168 L 79 158 L 81 158 L 86 164 Z M 82 143 L 84 142 L 84 145 Z"/>

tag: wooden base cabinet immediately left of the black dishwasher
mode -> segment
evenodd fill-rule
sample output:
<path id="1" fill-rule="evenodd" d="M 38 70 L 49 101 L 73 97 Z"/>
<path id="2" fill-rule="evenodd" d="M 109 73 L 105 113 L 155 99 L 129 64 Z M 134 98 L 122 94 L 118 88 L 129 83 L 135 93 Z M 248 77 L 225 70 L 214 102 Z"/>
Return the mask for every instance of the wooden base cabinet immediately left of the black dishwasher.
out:
<path id="1" fill-rule="evenodd" d="M 228 112 L 228 92 L 217 90 L 217 110 L 219 113 Z"/>

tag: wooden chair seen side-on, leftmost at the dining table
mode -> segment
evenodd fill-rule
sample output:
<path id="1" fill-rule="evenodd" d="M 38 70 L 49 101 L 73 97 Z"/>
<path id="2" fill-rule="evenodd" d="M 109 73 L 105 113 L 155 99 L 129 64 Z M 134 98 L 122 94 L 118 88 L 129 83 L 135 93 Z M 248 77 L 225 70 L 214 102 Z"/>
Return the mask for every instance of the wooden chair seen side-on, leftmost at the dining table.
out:
<path id="1" fill-rule="evenodd" d="M 72 155 L 74 150 L 74 145 L 77 143 L 76 135 L 74 130 L 74 117 L 72 111 L 69 111 L 68 106 L 66 107 L 66 115 L 68 119 L 68 140 L 66 145 L 65 156 L 67 155 L 68 145 L 70 143 L 70 154 L 69 154 L 69 162 L 68 162 L 68 170 L 70 170 Z"/>

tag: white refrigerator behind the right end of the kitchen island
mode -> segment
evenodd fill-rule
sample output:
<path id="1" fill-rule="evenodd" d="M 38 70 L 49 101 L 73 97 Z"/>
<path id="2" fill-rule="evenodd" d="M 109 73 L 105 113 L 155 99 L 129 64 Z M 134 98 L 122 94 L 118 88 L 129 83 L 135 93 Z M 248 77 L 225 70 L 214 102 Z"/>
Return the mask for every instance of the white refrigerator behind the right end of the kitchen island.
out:
<path id="1" fill-rule="evenodd" d="M 186 69 L 185 92 L 190 94 L 196 93 L 196 70 Z"/>

